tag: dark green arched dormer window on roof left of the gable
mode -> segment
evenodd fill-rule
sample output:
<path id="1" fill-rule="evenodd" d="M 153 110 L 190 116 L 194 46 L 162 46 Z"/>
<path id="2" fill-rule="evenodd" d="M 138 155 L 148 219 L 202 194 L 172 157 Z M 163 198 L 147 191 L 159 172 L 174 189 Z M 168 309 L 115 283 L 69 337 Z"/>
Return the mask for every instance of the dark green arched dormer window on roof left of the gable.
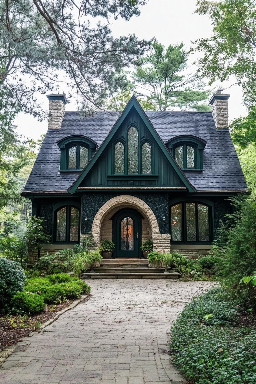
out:
<path id="1" fill-rule="evenodd" d="M 57 142 L 61 150 L 61 172 L 81 171 L 97 149 L 95 141 L 86 136 L 68 136 Z"/>

